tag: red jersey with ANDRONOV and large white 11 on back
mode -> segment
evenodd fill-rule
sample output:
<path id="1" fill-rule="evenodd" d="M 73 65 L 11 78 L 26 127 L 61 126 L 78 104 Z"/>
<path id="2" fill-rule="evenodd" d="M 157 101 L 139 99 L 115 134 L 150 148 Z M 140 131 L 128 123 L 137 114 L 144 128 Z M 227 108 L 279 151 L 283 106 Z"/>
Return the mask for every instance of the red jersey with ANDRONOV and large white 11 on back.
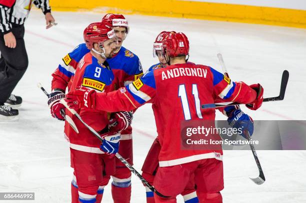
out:
<path id="1" fill-rule="evenodd" d="M 200 159 L 222 160 L 222 151 L 181 150 L 180 122 L 214 120 L 214 109 L 201 109 L 219 98 L 251 103 L 256 92 L 243 82 L 233 82 L 211 67 L 175 64 L 147 72 L 132 84 L 95 95 L 95 109 L 129 111 L 145 103 L 155 105 L 154 115 L 161 145 L 159 166 L 173 166 Z"/>

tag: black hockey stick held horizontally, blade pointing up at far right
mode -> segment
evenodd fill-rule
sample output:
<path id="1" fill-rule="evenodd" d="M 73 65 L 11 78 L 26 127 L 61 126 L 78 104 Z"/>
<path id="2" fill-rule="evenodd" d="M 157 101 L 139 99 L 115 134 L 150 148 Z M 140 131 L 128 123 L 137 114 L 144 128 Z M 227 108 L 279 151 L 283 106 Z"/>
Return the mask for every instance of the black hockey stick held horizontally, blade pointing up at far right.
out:
<path id="1" fill-rule="evenodd" d="M 285 94 L 285 91 L 286 91 L 286 87 L 287 87 L 288 78 L 289 78 L 289 72 L 287 70 L 284 70 L 282 72 L 279 95 L 277 97 L 263 98 L 263 102 L 283 100 L 284 94 Z M 234 106 L 234 105 L 240 105 L 240 104 L 241 103 L 237 103 L 237 102 L 202 104 L 202 109 L 220 108 L 220 107 Z"/>

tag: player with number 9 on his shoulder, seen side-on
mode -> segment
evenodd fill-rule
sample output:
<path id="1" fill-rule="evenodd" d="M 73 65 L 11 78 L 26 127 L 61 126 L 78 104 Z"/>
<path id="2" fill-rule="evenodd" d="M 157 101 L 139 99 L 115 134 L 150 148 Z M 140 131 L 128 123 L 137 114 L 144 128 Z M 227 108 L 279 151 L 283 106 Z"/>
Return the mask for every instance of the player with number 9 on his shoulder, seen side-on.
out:
<path id="1" fill-rule="evenodd" d="M 84 30 L 84 41 L 90 50 L 79 61 L 71 79 L 69 91 L 78 86 L 87 87 L 97 92 L 108 92 L 115 89 L 114 76 L 109 68 L 106 58 L 111 58 L 117 48 L 117 38 L 114 30 L 105 23 L 91 23 Z M 49 106 L 59 106 L 59 99 L 64 94 L 60 91 L 53 91 L 49 97 Z M 120 120 L 130 120 L 127 112 L 118 112 L 109 120 L 105 111 L 83 111 L 78 110 L 82 119 L 91 125 L 93 129 L 104 137 L 103 143 L 92 136 L 69 111 L 66 114 L 72 118 L 79 133 L 65 123 L 65 136 L 70 143 L 71 167 L 74 178 L 71 186 L 72 203 L 93 203 L 100 202 L 103 195 L 103 188 L 107 185 L 109 176 L 115 173 L 115 159 L 108 156 L 108 153 L 118 151 L 118 131 L 124 130 L 128 124 L 109 127 L 114 122 L 124 123 Z M 96 122 L 98 121 L 98 122 Z M 109 131 L 109 132 L 108 132 Z M 104 133 L 104 134 L 102 134 Z M 114 138 L 114 139 L 112 139 Z M 104 175 L 104 176 L 102 176 Z"/>

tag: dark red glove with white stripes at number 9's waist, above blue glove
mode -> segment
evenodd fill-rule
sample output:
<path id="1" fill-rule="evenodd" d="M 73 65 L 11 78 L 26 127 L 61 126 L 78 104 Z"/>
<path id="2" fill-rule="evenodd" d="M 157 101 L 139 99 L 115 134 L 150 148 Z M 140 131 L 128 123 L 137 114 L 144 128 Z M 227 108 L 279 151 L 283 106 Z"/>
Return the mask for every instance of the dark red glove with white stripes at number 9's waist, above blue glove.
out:
<path id="1" fill-rule="evenodd" d="M 109 119 L 109 131 L 120 132 L 125 130 L 133 119 L 133 115 L 128 111 L 112 113 Z"/>

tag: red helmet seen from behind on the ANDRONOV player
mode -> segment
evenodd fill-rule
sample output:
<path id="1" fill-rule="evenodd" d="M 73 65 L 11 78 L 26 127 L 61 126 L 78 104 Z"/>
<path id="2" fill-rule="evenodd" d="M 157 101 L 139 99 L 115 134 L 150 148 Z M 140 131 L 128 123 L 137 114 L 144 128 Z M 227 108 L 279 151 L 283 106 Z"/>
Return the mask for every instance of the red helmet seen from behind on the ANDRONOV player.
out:
<path id="1" fill-rule="evenodd" d="M 167 50 L 168 56 L 186 56 L 189 53 L 189 41 L 182 32 L 169 32 L 162 40 L 162 52 Z"/>

